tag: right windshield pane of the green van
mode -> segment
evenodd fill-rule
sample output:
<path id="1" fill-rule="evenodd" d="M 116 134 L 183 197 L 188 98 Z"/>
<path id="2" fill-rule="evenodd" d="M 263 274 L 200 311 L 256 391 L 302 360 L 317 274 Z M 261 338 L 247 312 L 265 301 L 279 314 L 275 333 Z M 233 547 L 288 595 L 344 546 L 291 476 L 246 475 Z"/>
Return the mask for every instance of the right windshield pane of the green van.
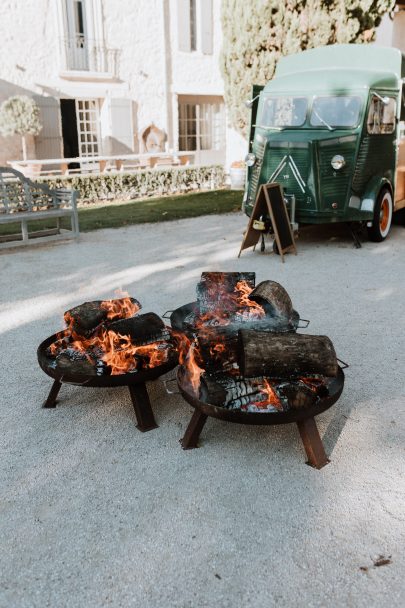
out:
<path id="1" fill-rule="evenodd" d="M 315 97 L 310 123 L 313 127 L 356 127 L 359 123 L 361 97 L 330 95 Z"/>

